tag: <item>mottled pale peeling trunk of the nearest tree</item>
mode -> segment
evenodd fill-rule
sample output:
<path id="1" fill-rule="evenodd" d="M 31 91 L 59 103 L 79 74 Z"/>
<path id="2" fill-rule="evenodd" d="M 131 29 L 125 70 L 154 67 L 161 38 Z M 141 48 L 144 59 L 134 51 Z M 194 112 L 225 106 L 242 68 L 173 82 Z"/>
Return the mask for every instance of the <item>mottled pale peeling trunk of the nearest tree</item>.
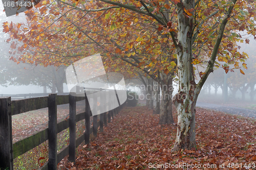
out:
<path id="1" fill-rule="evenodd" d="M 192 61 L 192 36 L 194 17 L 184 15 L 184 9 L 193 9 L 195 1 L 182 1 L 177 5 L 178 11 L 178 60 L 179 92 L 174 96 L 178 123 L 176 141 L 172 151 L 196 147 L 195 113 L 196 101 L 201 88 L 196 88 Z"/>

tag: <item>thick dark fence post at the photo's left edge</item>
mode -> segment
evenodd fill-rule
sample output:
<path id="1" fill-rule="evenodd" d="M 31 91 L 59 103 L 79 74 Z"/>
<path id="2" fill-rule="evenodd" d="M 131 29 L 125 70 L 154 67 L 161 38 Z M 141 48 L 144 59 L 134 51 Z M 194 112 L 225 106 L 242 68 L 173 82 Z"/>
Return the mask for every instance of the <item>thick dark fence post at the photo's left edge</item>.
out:
<path id="1" fill-rule="evenodd" d="M 0 168 L 13 170 L 11 97 L 0 98 Z"/>

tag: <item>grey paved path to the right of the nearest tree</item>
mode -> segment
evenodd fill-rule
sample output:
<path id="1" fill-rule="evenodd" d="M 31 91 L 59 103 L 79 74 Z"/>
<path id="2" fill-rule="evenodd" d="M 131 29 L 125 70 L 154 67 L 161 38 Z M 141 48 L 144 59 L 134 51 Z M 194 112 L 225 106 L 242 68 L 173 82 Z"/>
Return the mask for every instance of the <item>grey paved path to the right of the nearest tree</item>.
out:
<path id="1" fill-rule="evenodd" d="M 197 102 L 197 107 L 208 108 L 212 110 L 222 111 L 230 114 L 237 114 L 245 117 L 256 118 L 256 110 L 244 109 L 240 107 L 229 107 L 210 103 Z"/>

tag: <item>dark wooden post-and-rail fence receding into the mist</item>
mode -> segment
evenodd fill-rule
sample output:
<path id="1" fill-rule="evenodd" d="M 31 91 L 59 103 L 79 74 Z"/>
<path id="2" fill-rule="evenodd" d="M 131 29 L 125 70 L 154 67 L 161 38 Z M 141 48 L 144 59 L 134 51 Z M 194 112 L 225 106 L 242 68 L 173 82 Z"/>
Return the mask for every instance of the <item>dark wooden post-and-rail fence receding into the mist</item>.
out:
<path id="1" fill-rule="evenodd" d="M 106 96 L 107 98 L 108 96 Z M 85 111 L 76 113 L 76 102 L 85 100 Z M 69 160 L 75 162 L 76 148 L 83 141 L 85 144 L 90 142 L 90 134 L 97 135 L 98 128 L 103 131 L 103 127 L 111 122 L 123 105 L 111 111 L 101 113 L 98 122 L 98 115 L 93 116 L 93 127 L 90 128 L 90 117 L 92 116 L 89 105 L 90 99 L 87 96 L 77 97 L 75 94 L 57 95 L 49 94 L 49 96 L 30 98 L 23 100 L 11 101 L 11 97 L 0 98 L 0 168 L 13 169 L 13 159 L 37 147 L 42 142 L 49 142 L 49 160 L 39 169 L 57 169 L 57 164 L 65 156 L 69 155 Z M 93 99 L 94 104 L 104 103 L 104 99 Z M 111 99 L 108 100 L 109 102 Z M 57 105 L 69 104 L 69 118 L 57 124 Z M 111 105 L 111 102 L 110 102 Z M 48 107 L 49 123 L 48 128 L 29 136 L 23 140 L 12 143 L 12 115 L 37 110 Z M 92 108 L 93 109 L 93 108 Z M 80 137 L 76 138 L 76 122 L 85 119 L 86 131 Z M 57 152 L 57 134 L 70 128 L 70 143 L 65 148 Z"/>

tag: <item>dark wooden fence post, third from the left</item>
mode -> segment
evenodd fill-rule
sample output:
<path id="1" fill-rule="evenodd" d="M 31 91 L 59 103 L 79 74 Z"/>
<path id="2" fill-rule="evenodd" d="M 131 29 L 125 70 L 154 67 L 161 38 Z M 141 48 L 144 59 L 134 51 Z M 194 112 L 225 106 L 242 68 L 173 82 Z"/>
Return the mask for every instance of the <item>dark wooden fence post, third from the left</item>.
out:
<path id="1" fill-rule="evenodd" d="M 69 161 L 76 161 L 76 93 L 69 94 Z"/>

